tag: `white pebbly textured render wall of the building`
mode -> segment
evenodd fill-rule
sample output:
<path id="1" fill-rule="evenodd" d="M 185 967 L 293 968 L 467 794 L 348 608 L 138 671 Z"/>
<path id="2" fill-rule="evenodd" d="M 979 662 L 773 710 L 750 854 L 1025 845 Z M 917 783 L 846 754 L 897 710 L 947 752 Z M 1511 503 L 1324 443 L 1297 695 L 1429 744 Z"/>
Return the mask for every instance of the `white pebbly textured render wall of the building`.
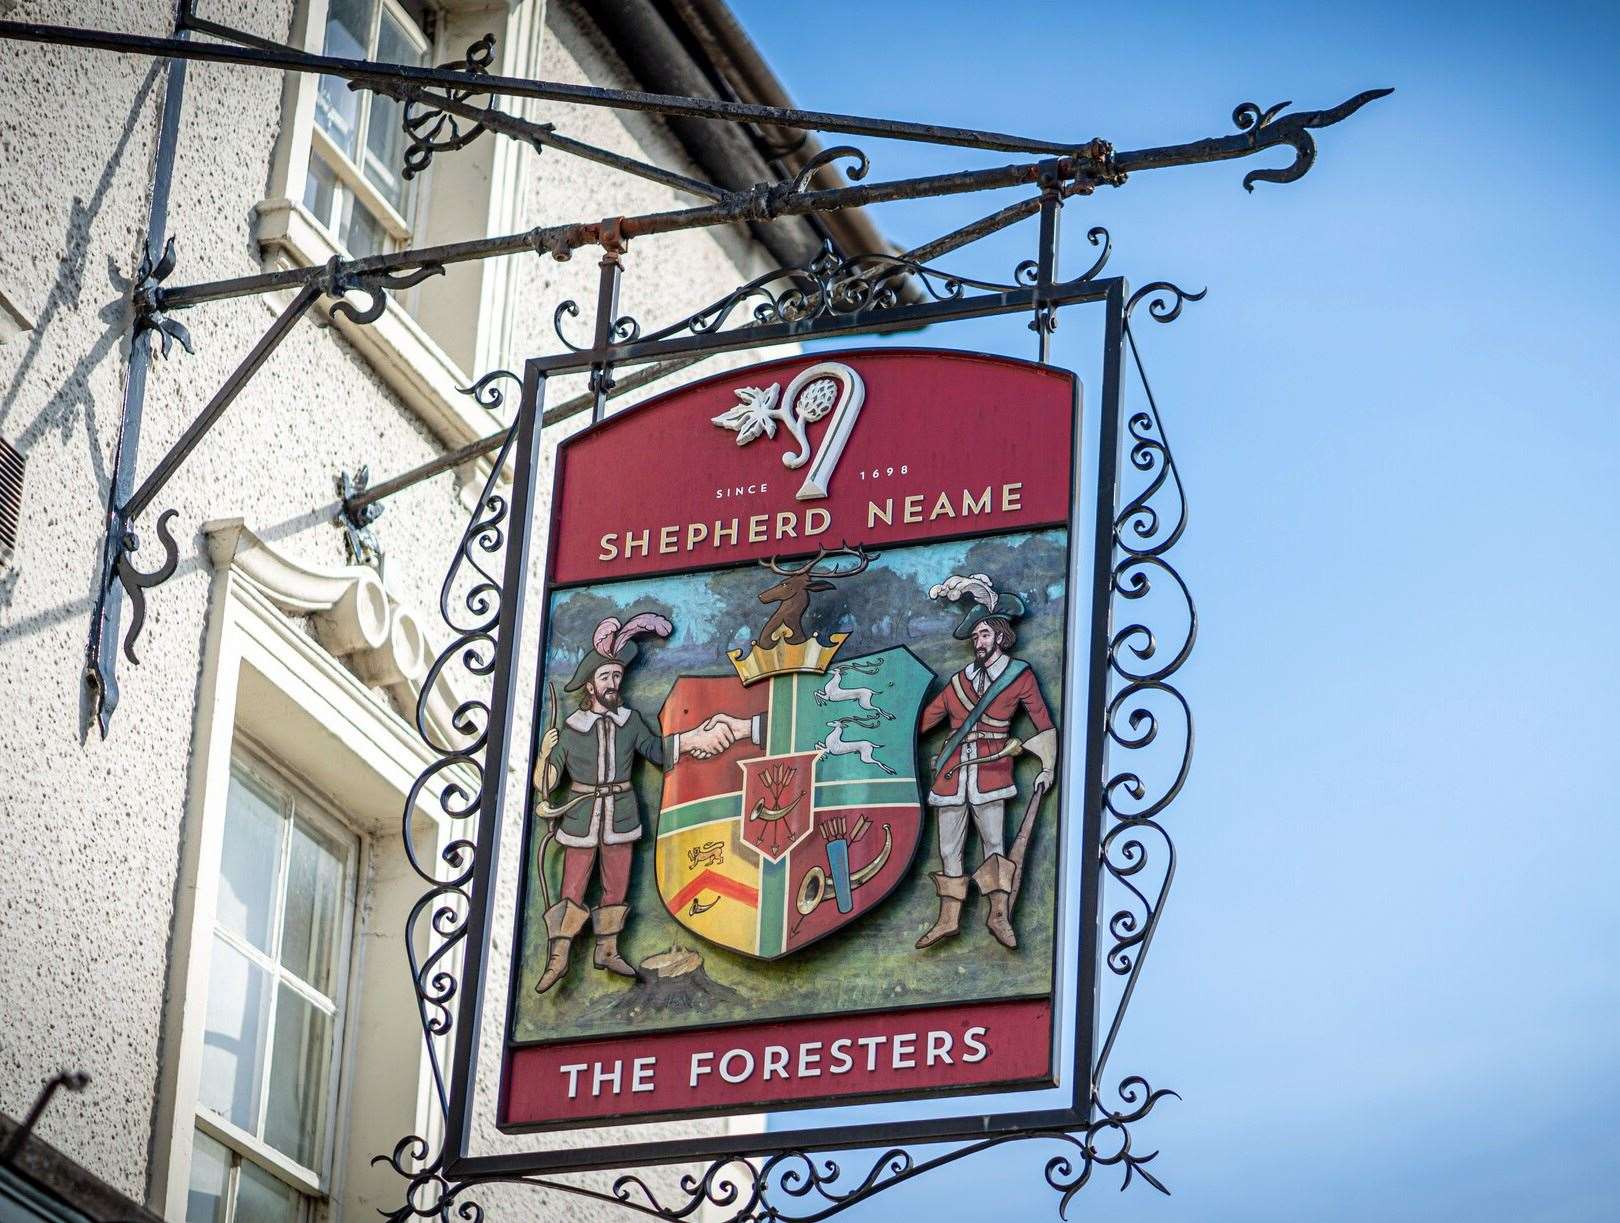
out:
<path id="1" fill-rule="evenodd" d="M 275 39 L 287 37 L 292 19 L 290 0 L 211 8 L 201 11 Z M 23 0 L 11 16 L 159 34 L 170 28 L 172 5 Z M 570 10 L 554 0 L 546 21 L 543 75 L 633 84 Z M 335 473 L 366 462 L 374 476 L 387 476 L 437 452 L 335 330 L 300 324 L 141 523 L 151 543 L 138 560 L 151 567 L 156 513 L 180 512 L 180 570 L 149 599 L 141 666 L 120 667 L 112 737 L 102 742 L 87 727 L 81 669 L 122 410 L 125 279 L 144 238 L 162 92 L 164 68 L 141 58 L 0 44 L 0 113 L 13 117 L 0 126 L 0 283 L 37 311 L 32 332 L 0 347 L 0 434 L 28 455 L 21 539 L 0 573 L 0 1110 L 21 1114 L 58 1067 L 89 1071 L 91 1087 L 60 1095 L 40 1134 L 136 1199 L 152 1189 L 164 982 L 188 834 L 209 591 L 198 526 L 240 513 L 267 543 L 337 565 Z M 253 207 L 267 191 L 280 105 L 279 73 L 188 68 L 168 225 L 180 249 L 172 283 L 258 271 Z M 544 118 L 580 139 L 693 172 L 656 120 L 569 107 L 548 109 Z M 690 202 L 556 152 L 530 154 L 526 170 L 523 225 Z M 554 348 L 551 313 L 564 296 L 580 301 L 575 322 L 585 334 L 596 274 L 591 251 L 567 264 L 533 256 L 517 264 L 510 368 Z M 659 322 L 763 266 L 735 232 L 633 243 L 624 308 Z M 154 363 L 139 473 L 201 410 L 279 305 L 248 298 L 185 317 L 198 353 Z M 559 389 L 552 402 L 573 389 Z M 463 518 L 454 481 L 441 478 L 394 497 L 377 523 L 390 586 L 424 614 L 436 607 Z M 567 1210 L 591 1217 L 585 1204 Z"/>

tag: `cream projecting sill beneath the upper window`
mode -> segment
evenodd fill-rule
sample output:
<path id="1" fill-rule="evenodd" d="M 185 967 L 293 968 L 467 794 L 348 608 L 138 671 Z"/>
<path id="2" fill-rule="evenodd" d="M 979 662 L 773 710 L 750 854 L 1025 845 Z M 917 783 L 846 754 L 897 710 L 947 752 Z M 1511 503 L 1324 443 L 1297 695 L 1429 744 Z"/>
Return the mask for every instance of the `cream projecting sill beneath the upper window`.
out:
<path id="1" fill-rule="evenodd" d="M 343 251 L 301 204 L 266 199 L 258 204 L 258 240 L 266 269 L 319 267 Z M 330 301 L 326 303 L 330 306 Z M 327 313 L 377 376 L 428 424 L 446 447 L 467 445 L 488 437 L 505 418 L 478 407 L 460 387 L 471 377 L 439 348 L 405 309 L 389 296 L 382 316 L 371 324 L 355 324 Z M 489 471 L 480 460 L 478 475 Z"/>

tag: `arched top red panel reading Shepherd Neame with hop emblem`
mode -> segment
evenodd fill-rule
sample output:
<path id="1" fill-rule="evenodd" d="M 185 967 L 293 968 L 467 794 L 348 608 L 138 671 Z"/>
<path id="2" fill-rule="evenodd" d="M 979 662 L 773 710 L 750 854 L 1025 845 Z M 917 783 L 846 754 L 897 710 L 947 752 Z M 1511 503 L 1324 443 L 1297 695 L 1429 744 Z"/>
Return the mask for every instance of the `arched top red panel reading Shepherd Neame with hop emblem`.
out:
<path id="1" fill-rule="evenodd" d="M 800 444 L 792 426 L 804 413 L 782 387 L 833 364 L 859 366 L 860 392 L 802 424 Z M 818 382 L 839 379 L 810 379 L 810 390 Z M 656 403 L 656 415 L 611 418 L 559 460 L 552 582 L 1069 518 L 1074 381 L 1050 366 L 904 350 L 855 364 L 794 358 Z M 714 424 L 737 411 L 734 424 Z M 825 496 L 807 496 L 821 486 Z"/>

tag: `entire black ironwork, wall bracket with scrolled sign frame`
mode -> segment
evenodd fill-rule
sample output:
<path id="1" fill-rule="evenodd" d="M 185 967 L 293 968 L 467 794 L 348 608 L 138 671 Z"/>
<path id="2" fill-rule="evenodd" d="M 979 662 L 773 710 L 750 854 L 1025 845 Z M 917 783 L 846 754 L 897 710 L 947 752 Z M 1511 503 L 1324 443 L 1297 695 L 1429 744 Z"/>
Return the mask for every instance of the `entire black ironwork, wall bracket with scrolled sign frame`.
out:
<path id="1" fill-rule="evenodd" d="M 1283 102 L 1262 109 L 1243 102 L 1233 110 L 1236 133 L 1184 144 L 1118 151 L 1103 139 L 1084 143 L 1032 139 L 1027 136 L 914 123 L 891 118 L 839 115 L 735 100 L 646 94 L 595 86 L 533 81 L 488 73 L 492 37 L 475 42 L 465 58 L 437 68 L 374 63 L 327 55 L 311 55 L 259 36 L 207 21 L 194 11 L 194 0 L 177 0 L 170 37 L 117 31 L 0 21 L 0 39 L 23 44 L 78 47 L 97 52 L 144 55 L 168 62 L 152 202 L 144 256 L 131 287 L 128 324 L 128 371 L 120 420 L 113 479 L 109 489 L 107 535 L 100 559 L 97 601 L 91 617 L 86 651 L 89 708 L 109 732 L 118 703 L 117 653 L 122 603 L 131 604 L 123 654 L 136 661 L 134 643 L 144 620 L 147 593 L 167 582 L 178 564 L 178 548 L 170 525 L 175 510 L 157 517 L 156 530 L 164 557 L 152 570 L 134 565 L 139 541 L 136 520 L 156 502 L 190 452 L 207 436 L 251 377 L 274 356 L 280 342 L 301 317 L 324 311 L 353 324 L 369 324 L 382 316 L 390 292 L 441 275 L 449 264 L 533 253 L 569 259 L 583 248 L 599 248 L 601 277 L 590 345 L 572 343 L 564 319 L 580 308 L 557 306 L 556 330 L 565 352 L 528 360 L 518 377 L 494 371 L 467 387 L 467 394 L 488 408 L 501 408 L 502 379 L 522 384 L 515 418 L 489 437 L 447 454 L 421 468 L 368 486 L 364 468 L 340 481 L 342 525 L 352 546 L 364 546 L 371 518 L 381 501 L 410 484 L 439 475 L 478 455 L 497 455 L 481 501 L 468 522 L 455 559 L 441 590 L 441 612 L 454 633 L 452 643 L 433 664 L 426 693 L 447 667 L 458 667 L 484 687 L 484 695 L 465 700 L 452 718 L 462 735 L 455 744 L 439 744 L 423 710 L 416 726 L 439 758 L 423 773 L 407 802 L 405 850 L 424 891 L 407 918 L 407 954 L 415 977 L 423 1033 L 433 1067 L 439 1121 L 428 1136 L 407 1136 L 376 1161 L 389 1163 L 403 1178 L 402 1204 L 387 1212 L 394 1220 L 434 1217 L 449 1223 L 452 1212 L 467 1223 L 478 1223 L 481 1207 L 471 1192 L 489 1183 L 512 1181 L 565 1194 L 583 1195 L 664 1220 L 692 1218 L 701 1207 L 729 1210 L 729 1218 L 820 1220 L 902 1184 L 932 1168 L 953 1163 L 975 1152 L 1027 1139 L 1064 1144 L 1048 1160 L 1045 1176 L 1066 1208 L 1098 1168 L 1118 1166 L 1124 1184 L 1140 1176 L 1153 1187 L 1165 1186 L 1147 1170 L 1152 1153 L 1132 1150 L 1132 1126 L 1142 1121 L 1170 1092 L 1153 1090 L 1137 1076 L 1119 1080 L 1116 1103 L 1105 1102 L 1102 1080 L 1119 1035 L 1121 1021 L 1136 988 L 1142 961 L 1163 912 L 1174 876 L 1174 847 L 1160 823 L 1162 813 L 1181 792 L 1192 752 L 1192 724 L 1187 703 L 1174 685 L 1197 635 L 1197 614 L 1186 583 L 1166 559 L 1186 526 L 1181 478 L 1163 420 L 1147 382 L 1131 321 L 1147 306 L 1162 322 L 1179 316 L 1186 301 L 1202 293 L 1186 293 L 1168 282 L 1153 282 L 1131 293 L 1123 279 L 1102 277 L 1108 259 L 1108 237 L 1100 228 L 1087 233 L 1100 248 L 1087 272 L 1071 280 L 1058 275 L 1059 214 L 1066 199 L 1092 194 L 1100 186 L 1121 186 L 1128 175 L 1174 165 L 1249 157 L 1268 147 L 1286 146 L 1293 160 L 1280 168 L 1251 170 L 1243 185 L 1256 181 L 1290 183 L 1304 177 L 1315 160 L 1314 130 L 1332 126 L 1367 102 L 1392 91 L 1372 89 L 1328 110 L 1285 113 Z M 191 60 L 227 63 L 253 70 L 329 75 L 347 79 L 352 89 L 371 91 L 400 100 L 408 147 L 407 173 L 424 168 L 433 157 L 467 147 L 484 133 L 517 139 L 536 151 L 583 157 L 617 172 L 661 183 L 701 202 L 642 215 L 608 215 L 548 225 L 523 233 L 476 238 L 446 246 L 394 251 L 363 259 L 334 258 L 322 267 L 293 267 L 211 283 L 168 285 L 178 264 L 177 241 L 168 233 L 167 209 L 175 160 L 181 143 L 185 68 Z M 599 149 L 559 133 L 554 125 L 533 123 L 501 109 L 510 97 L 614 110 L 648 112 L 731 125 L 763 125 L 774 130 L 876 136 L 935 144 L 941 147 L 995 149 L 1025 157 L 1008 165 L 956 170 L 923 178 L 862 181 L 867 157 L 850 146 L 821 151 L 813 143 L 792 165 L 781 157 L 773 172 L 787 167 L 778 181 L 760 181 L 745 190 L 723 190 L 688 173 L 650 165 L 633 157 Z M 847 164 L 847 180 L 834 170 Z M 663 233 L 723 227 L 739 222 L 768 224 L 781 217 L 855 209 L 868 204 L 962 194 L 1009 186 L 1034 188 L 1034 194 L 1004 206 L 969 225 L 904 254 L 886 251 L 849 253 L 831 246 L 805 266 L 781 267 L 757 277 L 700 311 L 651 334 L 635 319 L 619 314 L 619 283 L 625 246 Z M 1009 283 L 978 280 L 940 271 L 933 259 L 964 248 L 1019 220 L 1037 217 L 1040 235 L 1037 258 L 1017 266 Z M 288 292 L 290 301 L 258 340 L 238 368 L 225 379 L 202 413 L 173 447 L 136 483 L 136 458 L 147 373 L 154 347 L 167 356 L 172 345 L 191 350 L 191 334 L 177 314 L 238 296 Z M 358 300 L 356 300 L 358 298 Z M 1027 313 L 1037 335 L 1038 356 L 1048 360 L 1056 311 L 1063 306 L 1102 305 L 1102 410 L 1097 437 L 1097 502 L 1090 580 L 1090 627 L 1085 641 L 1089 711 L 1084 731 L 1082 765 L 1082 914 L 1077 948 L 1079 1009 L 1072 1066 L 1072 1095 L 1063 1108 L 1047 1108 L 998 1116 L 938 1119 L 897 1129 L 847 1126 L 771 1132 L 740 1140 L 682 1140 L 635 1144 L 598 1150 L 593 1158 L 541 1160 L 533 1155 L 471 1155 L 468 1134 L 470 1074 L 476 1053 L 483 1004 L 484 949 L 489 936 L 491 881 L 496 870 L 496 828 L 501 794 L 507 784 L 505 765 L 512 753 L 514 627 L 522 614 L 528 570 L 530 525 L 538 497 L 536 473 L 541 439 L 548 426 L 590 410 L 601 420 L 608 400 L 625 390 L 667 376 L 693 360 L 739 348 L 768 348 L 833 335 L 875 335 L 995 314 Z M 747 326 L 732 326 L 735 319 Z M 624 374 L 625 368 L 643 366 Z M 1128 407 L 1126 373 L 1134 368 L 1142 405 Z M 552 376 L 590 371 L 586 395 L 544 410 L 543 389 Z M 504 491 L 501 473 L 512 470 L 514 483 Z M 1126 489 L 1126 479 L 1137 484 Z M 492 562 L 499 557 L 499 570 Z M 1072 577 L 1072 575 L 1071 575 Z M 1071 583 L 1076 590 L 1079 583 Z M 1165 632 L 1153 616 L 1137 612 L 1136 601 L 1150 591 L 1168 591 L 1184 611 Z M 1134 606 L 1132 606 L 1134 604 Z M 1136 760 L 1165 742 L 1170 765 L 1144 768 Z M 531 748 L 530 748 L 531 750 Z M 484 782 L 489 784 L 484 784 Z M 411 813 L 433 797 L 452 826 L 476 820 L 471 836 L 423 854 L 413 841 Z M 1108 899 L 1113 896 L 1115 899 Z M 1106 914 L 1106 918 L 1103 917 Z M 424 946 L 426 951 L 418 951 Z M 1106 967 L 1106 974 L 1103 969 Z M 1118 982 L 1118 999 L 1103 1027 L 1102 983 Z M 475 982 L 463 990 L 462 982 Z M 450 1043 L 449 1066 L 441 1045 Z M 930 1158 L 917 1158 L 896 1137 L 912 1142 L 959 1142 Z M 839 1147 L 881 1147 L 865 1173 L 846 1176 L 816 1152 Z M 557 1179 L 552 1173 L 570 1168 L 627 1168 L 635 1163 L 708 1160 L 706 1166 L 680 1181 L 682 1199 L 661 1202 L 653 1187 L 633 1171 L 619 1176 L 611 1189 Z"/>

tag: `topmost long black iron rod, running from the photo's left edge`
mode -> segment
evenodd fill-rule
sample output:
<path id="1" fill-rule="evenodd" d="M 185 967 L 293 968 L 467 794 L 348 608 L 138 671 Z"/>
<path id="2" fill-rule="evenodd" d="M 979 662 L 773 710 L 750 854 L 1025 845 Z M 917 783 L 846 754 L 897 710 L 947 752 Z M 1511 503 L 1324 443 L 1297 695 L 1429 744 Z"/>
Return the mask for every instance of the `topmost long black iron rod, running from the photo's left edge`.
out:
<path id="1" fill-rule="evenodd" d="M 407 84 L 465 89 L 467 75 L 447 68 L 416 68 L 405 63 L 371 63 L 337 55 L 311 55 L 300 50 L 269 50 L 266 47 L 225 47 L 212 42 L 186 42 L 185 39 L 154 39 L 144 34 L 123 34 L 105 29 L 76 26 L 50 26 L 36 21 L 0 21 L 0 37 L 18 42 L 47 42 L 58 47 L 87 47 L 91 50 L 128 52 L 134 55 L 178 57 L 206 60 L 209 63 L 240 63 L 254 68 L 282 68 L 298 73 L 340 76 L 347 81 L 386 78 Z M 711 97 L 680 97 L 676 94 L 646 94 L 638 89 L 604 89 L 588 84 L 562 84 L 559 81 L 530 81 L 520 76 L 480 76 L 480 92 L 512 97 L 536 97 L 543 102 L 572 102 L 586 107 L 612 110 L 642 110 L 658 115 L 685 118 L 713 118 L 724 123 L 761 123 L 776 128 L 802 131 L 834 131 L 847 136 L 880 136 L 885 139 L 920 141 L 925 144 L 956 144 L 969 149 L 996 149 L 1001 152 L 1064 154 L 1072 144 L 1038 141 L 1003 131 L 980 128 L 956 128 L 936 123 L 909 123 L 894 118 L 867 115 L 841 115 L 829 110 L 800 110 L 797 107 L 766 107 L 752 102 L 726 102 Z"/>

